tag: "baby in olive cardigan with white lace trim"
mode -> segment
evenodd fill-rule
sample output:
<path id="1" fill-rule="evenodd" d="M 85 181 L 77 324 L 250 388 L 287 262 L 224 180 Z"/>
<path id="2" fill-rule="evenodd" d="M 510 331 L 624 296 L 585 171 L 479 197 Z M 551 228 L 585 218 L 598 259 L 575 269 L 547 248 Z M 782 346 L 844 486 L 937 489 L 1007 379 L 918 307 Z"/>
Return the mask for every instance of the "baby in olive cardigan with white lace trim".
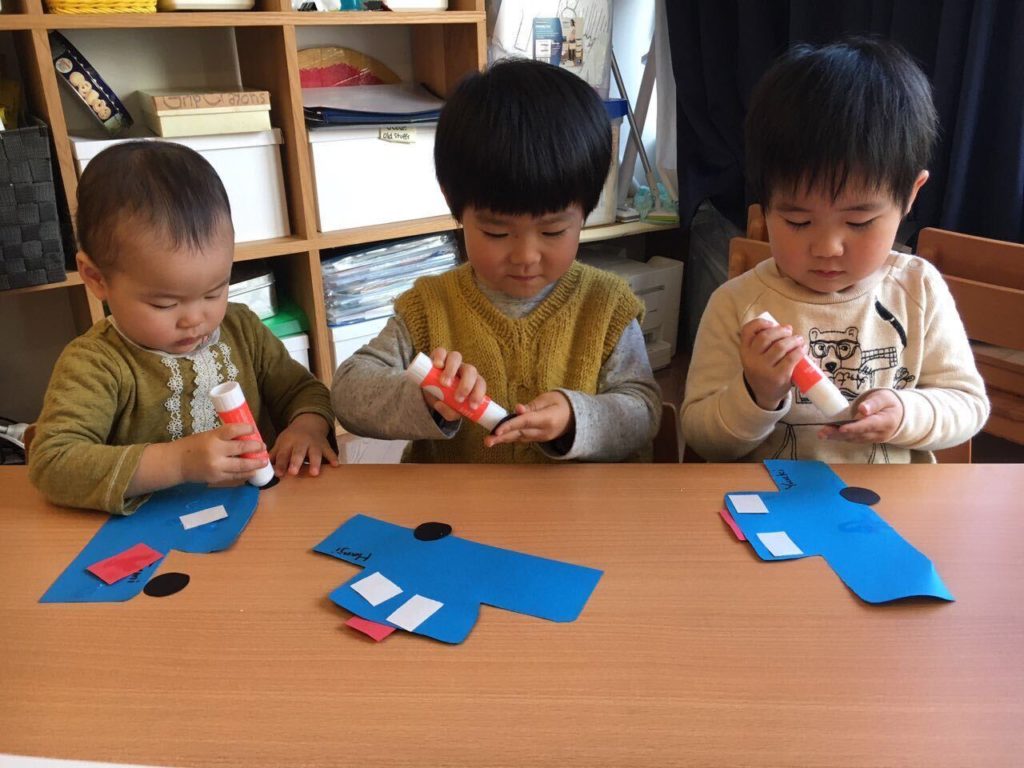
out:
<path id="1" fill-rule="evenodd" d="M 131 141 L 79 185 L 78 269 L 110 316 L 61 353 L 30 452 L 53 502 L 125 514 L 181 482 L 244 481 L 249 425 L 219 425 L 209 392 L 242 385 L 275 473 L 337 463 L 323 384 L 247 307 L 227 303 L 234 233 L 224 187 L 191 150 Z"/>

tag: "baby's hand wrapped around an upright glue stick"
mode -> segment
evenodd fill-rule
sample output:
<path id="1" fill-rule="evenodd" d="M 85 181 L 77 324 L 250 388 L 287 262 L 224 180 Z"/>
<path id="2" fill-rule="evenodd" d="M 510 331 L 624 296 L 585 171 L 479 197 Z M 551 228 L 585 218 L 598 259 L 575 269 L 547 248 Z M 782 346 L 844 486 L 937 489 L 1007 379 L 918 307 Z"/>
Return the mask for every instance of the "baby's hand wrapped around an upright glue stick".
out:
<path id="1" fill-rule="evenodd" d="M 266 466 L 266 459 L 243 459 L 242 454 L 266 451 L 259 440 L 238 440 L 252 434 L 252 424 L 224 424 L 208 432 L 182 437 L 173 446 L 180 461 L 182 482 L 242 482 Z"/>

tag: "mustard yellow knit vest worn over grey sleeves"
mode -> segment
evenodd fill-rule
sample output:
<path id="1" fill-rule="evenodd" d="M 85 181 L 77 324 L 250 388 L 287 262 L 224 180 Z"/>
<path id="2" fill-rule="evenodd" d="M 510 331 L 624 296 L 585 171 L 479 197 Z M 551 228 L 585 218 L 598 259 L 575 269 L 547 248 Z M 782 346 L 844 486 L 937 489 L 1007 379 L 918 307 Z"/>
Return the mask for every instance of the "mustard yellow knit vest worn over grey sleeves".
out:
<path id="1" fill-rule="evenodd" d="M 621 278 L 575 262 L 524 317 L 507 317 L 480 293 L 469 264 L 421 278 L 395 302 L 417 351 L 458 350 L 487 382 L 487 394 L 511 411 L 559 387 L 597 393 L 601 366 L 643 304 Z M 483 446 L 484 431 L 466 421 L 451 440 L 417 440 L 406 461 L 529 463 L 550 461 L 530 444 Z"/>

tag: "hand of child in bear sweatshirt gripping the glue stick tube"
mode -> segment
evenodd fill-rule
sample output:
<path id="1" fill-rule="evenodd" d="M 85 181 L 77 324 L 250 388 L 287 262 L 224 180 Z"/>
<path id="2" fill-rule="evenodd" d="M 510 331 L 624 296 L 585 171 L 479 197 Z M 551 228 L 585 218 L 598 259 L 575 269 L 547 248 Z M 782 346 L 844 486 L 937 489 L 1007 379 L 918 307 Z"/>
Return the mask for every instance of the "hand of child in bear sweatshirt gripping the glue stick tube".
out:
<path id="1" fill-rule="evenodd" d="M 755 317 L 739 330 L 739 360 L 754 401 L 774 411 L 792 386 L 793 369 L 804 353 L 804 339 L 793 326 L 773 326 Z"/>

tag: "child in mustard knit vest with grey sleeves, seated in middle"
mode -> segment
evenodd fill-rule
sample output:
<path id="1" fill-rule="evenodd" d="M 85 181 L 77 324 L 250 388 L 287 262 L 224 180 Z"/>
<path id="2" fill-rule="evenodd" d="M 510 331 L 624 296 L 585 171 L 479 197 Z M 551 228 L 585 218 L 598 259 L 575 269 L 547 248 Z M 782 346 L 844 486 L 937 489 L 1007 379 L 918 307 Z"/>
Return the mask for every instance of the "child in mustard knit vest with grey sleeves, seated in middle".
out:
<path id="1" fill-rule="evenodd" d="M 502 61 L 445 103 L 434 162 L 468 263 L 422 278 L 334 378 L 354 434 L 413 440 L 408 461 L 621 461 L 657 430 L 660 391 L 638 318 L 611 274 L 575 261 L 611 159 L 601 100 L 550 65 Z M 430 355 L 456 398 L 513 412 L 493 434 L 403 375 Z"/>

